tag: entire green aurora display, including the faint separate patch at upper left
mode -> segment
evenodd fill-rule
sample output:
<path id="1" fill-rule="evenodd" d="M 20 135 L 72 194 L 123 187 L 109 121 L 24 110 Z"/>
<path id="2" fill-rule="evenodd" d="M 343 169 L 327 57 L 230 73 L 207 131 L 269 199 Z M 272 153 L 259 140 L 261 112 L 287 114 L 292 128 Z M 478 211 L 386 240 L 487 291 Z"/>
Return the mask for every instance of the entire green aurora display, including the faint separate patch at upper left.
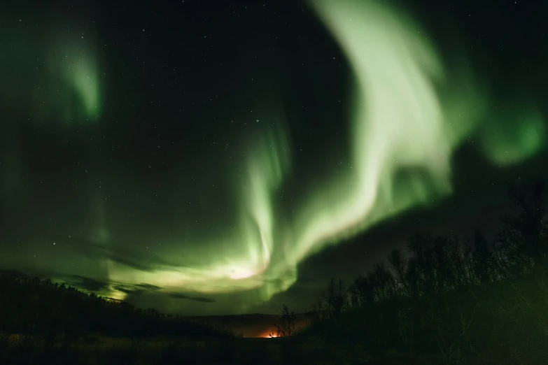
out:
<path id="1" fill-rule="evenodd" d="M 516 164 L 545 147 L 545 124 L 533 106 L 491 113 L 489 87 L 465 64 L 447 71 L 426 33 L 409 17 L 377 1 L 311 0 L 309 5 L 346 56 L 353 77 L 351 120 L 333 121 L 351 126 L 348 168 L 310 186 L 291 212 L 284 211 L 277 197 L 290 173 L 299 171 L 292 171 L 292 143 L 277 110 L 262 118 L 275 127 L 250 138 L 241 151 L 241 166 L 231 166 L 237 206 L 230 231 L 211 229 L 171 242 L 166 238 L 153 257 L 154 269 L 106 258 L 99 264 L 101 280 L 147 283 L 166 292 L 248 292 L 267 301 L 295 283 L 297 266 L 314 253 L 451 194 L 451 158 L 463 143 L 477 139 L 496 165 Z M 4 47 L 18 55 L 13 62 L 33 73 L 22 81 L 20 74 L 6 76 L 4 89 L 16 91 L 3 94 L 6 105 L 20 106 L 15 98 L 24 96 L 34 106 L 29 113 L 36 120 L 96 120 L 101 115 L 101 68 L 92 37 L 52 36 L 50 58 L 43 60 L 35 57 L 39 53 L 33 47 L 22 45 L 29 38 L 24 31 Z M 6 59 L 0 58 L 0 66 L 6 66 Z M 22 92 L 27 81 L 31 87 Z M 15 161 L 17 154 L 10 152 L 6 160 Z M 10 171 L 17 170 L 13 164 Z M 116 241 L 106 224 L 105 199 L 102 194 L 94 199 L 95 229 L 87 242 L 107 252 Z M 88 269 L 97 266 L 95 257 L 78 253 L 64 259 Z M 127 296 L 113 287 L 100 294 Z"/>

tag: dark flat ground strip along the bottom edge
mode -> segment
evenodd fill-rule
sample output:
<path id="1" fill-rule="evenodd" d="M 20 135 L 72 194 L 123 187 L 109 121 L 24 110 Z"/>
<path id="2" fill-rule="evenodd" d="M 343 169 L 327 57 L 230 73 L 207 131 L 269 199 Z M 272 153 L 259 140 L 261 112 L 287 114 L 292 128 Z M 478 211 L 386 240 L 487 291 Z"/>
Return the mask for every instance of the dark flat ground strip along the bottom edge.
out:
<path id="1" fill-rule="evenodd" d="M 360 345 L 317 338 L 111 338 L 45 343 L 33 336 L 1 336 L 0 364 L 441 364 Z"/>

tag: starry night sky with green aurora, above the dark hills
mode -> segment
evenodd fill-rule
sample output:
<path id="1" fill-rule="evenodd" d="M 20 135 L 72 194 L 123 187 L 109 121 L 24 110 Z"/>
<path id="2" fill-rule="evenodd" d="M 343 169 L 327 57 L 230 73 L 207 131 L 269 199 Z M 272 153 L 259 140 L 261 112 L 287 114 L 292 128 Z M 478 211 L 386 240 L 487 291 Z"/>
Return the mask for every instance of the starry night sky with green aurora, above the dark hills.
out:
<path id="1" fill-rule="evenodd" d="M 307 310 L 548 176 L 546 2 L 144 3 L 0 6 L 1 268 Z"/>

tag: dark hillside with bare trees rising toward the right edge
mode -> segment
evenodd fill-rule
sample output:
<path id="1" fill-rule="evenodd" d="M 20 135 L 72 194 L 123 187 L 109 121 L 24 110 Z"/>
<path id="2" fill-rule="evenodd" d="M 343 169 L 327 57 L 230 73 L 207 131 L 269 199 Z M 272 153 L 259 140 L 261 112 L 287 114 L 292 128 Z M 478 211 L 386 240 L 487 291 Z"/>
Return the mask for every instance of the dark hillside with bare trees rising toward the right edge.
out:
<path id="1" fill-rule="evenodd" d="M 419 233 L 353 282 L 332 279 L 302 334 L 425 362 L 540 364 L 548 355 L 545 185 L 510 187 L 509 198 L 511 213 L 491 241 L 479 229 L 467 239 Z M 284 310 L 279 335 L 295 334 L 294 313 Z"/>

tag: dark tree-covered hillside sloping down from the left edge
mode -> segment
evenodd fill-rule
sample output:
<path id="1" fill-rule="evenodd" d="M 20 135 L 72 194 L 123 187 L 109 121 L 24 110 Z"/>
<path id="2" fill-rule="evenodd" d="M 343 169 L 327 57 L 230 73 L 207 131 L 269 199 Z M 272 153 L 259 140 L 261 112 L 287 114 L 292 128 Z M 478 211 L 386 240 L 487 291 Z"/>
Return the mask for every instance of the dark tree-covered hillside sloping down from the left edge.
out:
<path id="1" fill-rule="evenodd" d="M 125 301 L 81 292 L 49 279 L 0 272 L 0 334 L 61 335 L 78 339 L 85 333 L 112 336 L 234 336 L 179 315 L 135 308 Z"/>

